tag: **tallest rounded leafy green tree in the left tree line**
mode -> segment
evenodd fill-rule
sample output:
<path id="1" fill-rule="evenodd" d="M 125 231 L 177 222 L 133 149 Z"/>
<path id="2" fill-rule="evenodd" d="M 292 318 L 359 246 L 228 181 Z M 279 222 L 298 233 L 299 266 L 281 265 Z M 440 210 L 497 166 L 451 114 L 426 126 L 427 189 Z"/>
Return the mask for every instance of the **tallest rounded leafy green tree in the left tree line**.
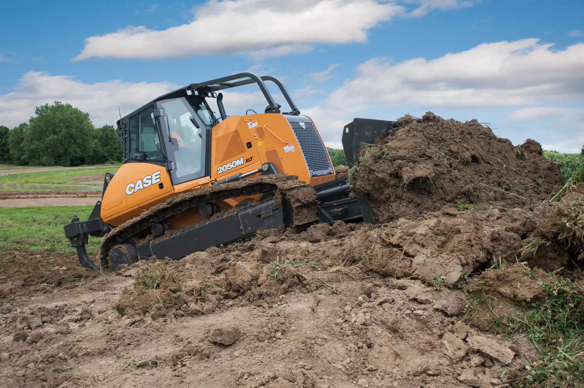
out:
<path id="1" fill-rule="evenodd" d="M 25 158 L 33 165 L 79 165 L 92 152 L 89 114 L 55 101 L 36 107 L 25 139 Z"/>

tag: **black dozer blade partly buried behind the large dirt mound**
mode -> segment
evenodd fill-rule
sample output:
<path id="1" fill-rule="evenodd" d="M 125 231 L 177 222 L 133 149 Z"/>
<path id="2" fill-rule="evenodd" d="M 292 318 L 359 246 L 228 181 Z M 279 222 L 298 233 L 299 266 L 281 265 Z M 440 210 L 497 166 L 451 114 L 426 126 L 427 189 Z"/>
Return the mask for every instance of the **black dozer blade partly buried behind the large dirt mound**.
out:
<path id="1" fill-rule="evenodd" d="M 385 139 L 395 129 L 396 124 L 395 121 L 354 118 L 352 122 L 345 125 L 342 143 L 349 168 L 352 168 L 359 160 L 359 151 L 363 144 L 374 144 L 376 140 Z M 363 221 L 371 224 L 379 223 L 380 219 L 369 200 L 359 192 L 357 192 L 357 200 L 359 200 Z"/>

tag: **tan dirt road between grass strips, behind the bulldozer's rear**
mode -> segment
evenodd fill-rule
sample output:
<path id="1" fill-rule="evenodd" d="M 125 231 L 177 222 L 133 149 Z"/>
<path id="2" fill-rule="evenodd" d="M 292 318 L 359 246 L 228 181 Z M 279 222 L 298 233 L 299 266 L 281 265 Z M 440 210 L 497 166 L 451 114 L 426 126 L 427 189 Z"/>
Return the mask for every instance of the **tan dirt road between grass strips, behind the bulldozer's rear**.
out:
<path id="1" fill-rule="evenodd" d="M 101 196 L 100 191 L 3 191 L 0 192 L 0 207 L 86 205 L 95 204 Z"/>

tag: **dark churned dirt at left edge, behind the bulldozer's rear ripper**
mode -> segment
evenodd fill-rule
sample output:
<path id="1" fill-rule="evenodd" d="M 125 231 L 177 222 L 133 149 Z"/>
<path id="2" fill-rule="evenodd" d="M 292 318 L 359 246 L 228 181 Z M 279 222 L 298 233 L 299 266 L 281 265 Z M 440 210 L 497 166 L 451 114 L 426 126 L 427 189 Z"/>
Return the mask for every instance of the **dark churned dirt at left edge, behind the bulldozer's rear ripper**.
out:
<path id="1" fill-rule="evenodd" d="M 57 288 L 75 288 L 99 276 L 96 271 L 79 265 L 77 256 L 62 252 L 20 251 L 0 253 L 0 299 L 19 294 L 52 292 Z"/>

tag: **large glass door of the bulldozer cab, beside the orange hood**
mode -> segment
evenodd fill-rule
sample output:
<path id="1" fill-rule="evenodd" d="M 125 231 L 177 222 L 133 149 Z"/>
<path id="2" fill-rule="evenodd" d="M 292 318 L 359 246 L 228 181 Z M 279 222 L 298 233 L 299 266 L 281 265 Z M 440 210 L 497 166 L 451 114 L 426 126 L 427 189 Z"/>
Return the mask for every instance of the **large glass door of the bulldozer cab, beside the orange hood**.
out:
<path id="1" fill-rule="evenodd" d="M 171 171 L 173 185 L 204 177 L 206 128 L 194 125 L 200 121 L 185 98 L 172 98 L 160 104 L 164 109 L 162 122 L 167 126 L 162 131 L 165 133 L 161 141 L 166 144 L 169 160 L 175 162 L 175 169 Z"/>

